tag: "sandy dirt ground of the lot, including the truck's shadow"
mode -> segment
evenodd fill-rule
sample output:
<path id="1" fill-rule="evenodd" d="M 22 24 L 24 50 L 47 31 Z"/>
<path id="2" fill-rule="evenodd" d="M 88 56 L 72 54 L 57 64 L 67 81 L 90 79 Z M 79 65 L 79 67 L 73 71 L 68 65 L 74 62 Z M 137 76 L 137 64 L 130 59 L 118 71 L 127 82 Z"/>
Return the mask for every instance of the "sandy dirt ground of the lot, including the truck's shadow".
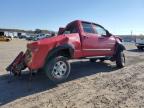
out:
<path id="1" fill-rule="evenodd" d="M 4 108 L 144 108 L 144 51 L 125 44 L 126 67 L 88 60 L 72 62 L 72 72 L 65 83 L 55 85 L 44 74 L 29 81 L 29 75 L 15 77 L 8 83 L 5 67 L 26 41 L 0 42 L 0 106 Z"/>

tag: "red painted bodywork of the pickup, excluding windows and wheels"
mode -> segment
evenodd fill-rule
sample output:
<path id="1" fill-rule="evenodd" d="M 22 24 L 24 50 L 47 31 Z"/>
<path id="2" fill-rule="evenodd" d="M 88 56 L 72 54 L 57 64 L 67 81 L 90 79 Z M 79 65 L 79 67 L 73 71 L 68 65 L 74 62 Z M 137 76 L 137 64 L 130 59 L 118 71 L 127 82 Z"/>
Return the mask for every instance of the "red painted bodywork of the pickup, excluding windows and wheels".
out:
<path id="1" fill-rule="evenodd" d="M 72 57 L 74 59 L 90 56 L 112 56 L 118 38 L 115 36 L 99 37 L 94 33 L 85 33 L 82 22 L 80 20 L 73 21 L 65 29 L 59 31 L 60 35 L 28 44 L 27 47 L 32 50 L 32 60 L 27 64 L 28 68 L 36 70 L 43 67 L 50 51 L 63 44 L 74 47 Z M 63 34 L 64 30 L 73 25 L 77 28 L 78 33 Z"/>

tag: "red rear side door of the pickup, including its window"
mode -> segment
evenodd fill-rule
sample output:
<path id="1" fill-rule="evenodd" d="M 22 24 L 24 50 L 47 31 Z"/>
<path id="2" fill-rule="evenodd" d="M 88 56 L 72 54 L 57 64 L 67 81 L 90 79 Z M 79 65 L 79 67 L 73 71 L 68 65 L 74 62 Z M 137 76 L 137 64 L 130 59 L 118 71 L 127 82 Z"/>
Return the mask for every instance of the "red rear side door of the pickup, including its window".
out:
<path id="1" fill-rule="evenodd" d="M 98 36 L 91 23 L 82 22 L 82 52 L 84 57 L 98 56 Z"/>

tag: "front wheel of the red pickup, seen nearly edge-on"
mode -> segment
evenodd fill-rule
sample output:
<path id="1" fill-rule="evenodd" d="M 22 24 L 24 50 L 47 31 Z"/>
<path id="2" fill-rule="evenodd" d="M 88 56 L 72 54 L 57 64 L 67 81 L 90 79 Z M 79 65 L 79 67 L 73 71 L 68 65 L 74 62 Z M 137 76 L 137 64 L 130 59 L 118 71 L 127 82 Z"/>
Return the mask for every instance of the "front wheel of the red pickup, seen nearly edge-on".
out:
<path id="1" fill-rule="evenodd" d="M 118 68 L 125 67 L 125 54 L 123 51 L 120 51 L 116 55 L 116 65 Z"/>

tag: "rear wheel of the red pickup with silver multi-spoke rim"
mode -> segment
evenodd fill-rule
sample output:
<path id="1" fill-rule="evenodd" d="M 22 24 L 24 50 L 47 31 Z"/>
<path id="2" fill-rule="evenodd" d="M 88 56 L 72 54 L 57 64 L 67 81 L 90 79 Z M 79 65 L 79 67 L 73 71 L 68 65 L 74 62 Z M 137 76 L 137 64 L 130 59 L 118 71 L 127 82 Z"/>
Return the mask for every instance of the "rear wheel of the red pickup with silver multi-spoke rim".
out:
<path id="1" fill-rule="evenodd" d="M 70 74 L 71 66 L 66 57 L 58 56 L 45 65 L 47 77 L 54 83 L 64 82 Z"/>

